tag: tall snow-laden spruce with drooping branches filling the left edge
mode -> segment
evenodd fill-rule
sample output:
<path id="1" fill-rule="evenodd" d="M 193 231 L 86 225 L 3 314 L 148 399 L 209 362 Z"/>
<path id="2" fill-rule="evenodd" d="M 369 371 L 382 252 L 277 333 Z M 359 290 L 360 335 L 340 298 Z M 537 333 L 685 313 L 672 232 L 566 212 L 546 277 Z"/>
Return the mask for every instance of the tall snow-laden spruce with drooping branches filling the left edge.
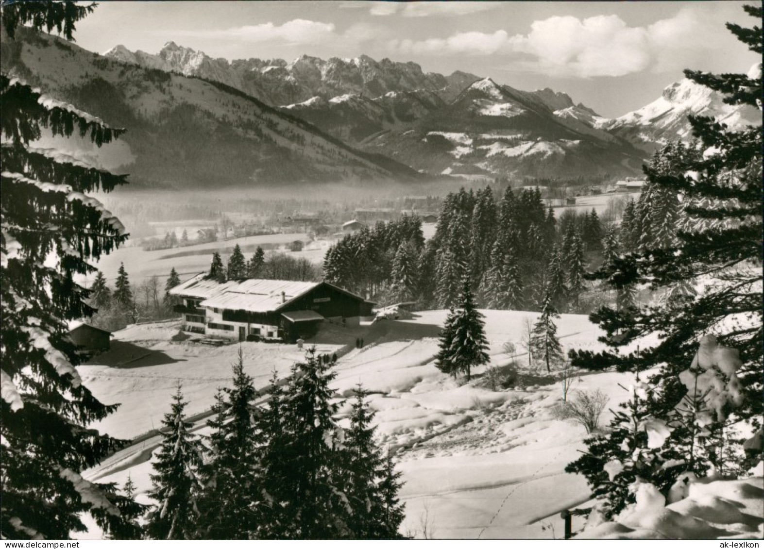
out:
<path id="1" fill-rule="evenodd" d="M 5 41 L 57 30 L 73 40 L 76 22 L 92 5 L 18 2 L 2 6 Z M 5 54 L 5 49 L 4 49 Z M 4 539 L 69 539 L 85 531 L 90 514 L 110 534 L 126 521 L 128 503 L 113 485 L 89 483 L 79 471 L 99 463 L 122 442 L 91 428 L 116 409 L 82 384 L 67 321 L 91 316 L 89 292 L 75 275 L 95 272 L 98 260 L 127 238 L 125 228 L 89 192 L 127 182 L 95 166 L 31 143 L 41 128 L 83 137 L 95 146 L 123 130 L 109 128 L 20 79 L 0 74 L 2 192 L 0 192 L 0 532 Z"/>

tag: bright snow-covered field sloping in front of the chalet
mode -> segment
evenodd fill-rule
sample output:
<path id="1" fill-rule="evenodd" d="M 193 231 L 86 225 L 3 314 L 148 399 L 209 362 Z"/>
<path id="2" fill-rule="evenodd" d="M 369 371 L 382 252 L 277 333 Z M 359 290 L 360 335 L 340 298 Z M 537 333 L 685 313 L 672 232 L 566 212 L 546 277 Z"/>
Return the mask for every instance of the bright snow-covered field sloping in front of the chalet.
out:
<path id="1" fill-rule="evenodd" d="M 491 363 L 513 360 L 503 352 L 509 341 L 517 347 L 514 360 L 525 365 L 523 325 L 538 313 L 484 313 Z M 397 451 L 403 472 L 403 531 L 436 538 L 561 537 L 559 512 L 590 499 L 584 479 L 564 472 L 584 448 L 584 428 L 555 418 L 553 407 L 562 398 L 557 383 L 492 392 L 481 379 L 482 368 L 470 383 L 440 373 L 433 357 L 446 314 L 422 312 L 410 321 L 380 321 L 370 327 L 328 325 L 316 337 L 321 354 L 346 344 L 352 348 L 356 337 L 364 337 L 363 349 L 352 348 L 338 360 L 334 388 L 338 398 L 350 396 L 358 383 L 372 393 L 380 442 Z M 557 323 L 565 350 L 601 348 L 600 332 L 585 316 L 562 315 Z M 97 364 L 79 368 L 95 396 L 106 403 L 121 402 L 97 428 L 125 438 L 156 428 L 179 379 L 189 415 L 209 409 L 215 389 L 229 383 L 239 344 L 208 347 L 171 341 L 177 333 L 173 322 L 126 328 L 115 334 L 112 351 L 94 360 Z M 245 371 L 258 387 L 267 385 L 274 367 L 286 374 L 303 356 L 289 344 L 244 343 L 241 350 Z M 573 391 L 600 389 L 614 407 L 627 396 L 619 385 L 632 381 L 630 374 L 582 373 Z M 343 405 L 343 412 L 348 409 Z M 204 433 L 203 419 L 197 421 L 197 432 Z M 129 473 L 139 500 L 147 502 L 151 454 L 158 442 L 157 437 L 141 438 L 86 476 L 124 483 Z"/>

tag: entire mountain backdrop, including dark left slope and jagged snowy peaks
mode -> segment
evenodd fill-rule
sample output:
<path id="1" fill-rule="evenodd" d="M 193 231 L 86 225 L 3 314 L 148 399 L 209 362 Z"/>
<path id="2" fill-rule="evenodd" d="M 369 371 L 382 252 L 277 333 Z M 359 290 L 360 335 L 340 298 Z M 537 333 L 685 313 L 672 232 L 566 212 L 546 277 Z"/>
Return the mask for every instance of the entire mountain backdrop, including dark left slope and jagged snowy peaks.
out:
<path id="1" fill-rule="evenodd" d="M 130 128 L 133 179 L 170 185 L 627 176 L 689 137 L 688 114 L 760 121 L 688 80 L 609 119 L 552 89 L 367 56 L 228 61 L 170 42 L 102 57 L 31 33 L 3 53 L 5 70 Z"/>

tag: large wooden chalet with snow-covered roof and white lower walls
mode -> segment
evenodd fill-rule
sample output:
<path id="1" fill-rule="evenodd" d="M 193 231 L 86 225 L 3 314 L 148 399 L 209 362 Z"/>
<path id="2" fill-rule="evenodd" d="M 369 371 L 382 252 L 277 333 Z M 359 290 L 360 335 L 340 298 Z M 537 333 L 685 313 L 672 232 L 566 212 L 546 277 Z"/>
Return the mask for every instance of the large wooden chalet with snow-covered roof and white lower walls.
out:
<path id="1" fill-rule="evenodd" d="M 316 334 L 322 321 L 357 325 L 373 302 L 329 283 L 246 279 L 219 283 L 200 273 L 170 290 L 183 299 L 175 312 L 183 330 L 246 341 L 296 341 Z"/>

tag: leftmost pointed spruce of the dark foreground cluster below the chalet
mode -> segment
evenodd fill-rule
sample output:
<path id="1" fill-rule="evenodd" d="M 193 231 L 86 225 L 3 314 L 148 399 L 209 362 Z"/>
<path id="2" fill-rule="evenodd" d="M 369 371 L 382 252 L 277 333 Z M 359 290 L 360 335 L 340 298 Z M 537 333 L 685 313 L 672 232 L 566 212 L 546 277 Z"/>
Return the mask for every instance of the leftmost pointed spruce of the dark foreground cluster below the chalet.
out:
<path id="1" fill-rule="evenodd" d="M 197 472 L 202 463 L 202 447 L 189 433 L 191 424 L 183 418 L 186 409 L 180 383 L 173 395 L 170 412 L 164 415 L 160 451 L 151 475 L 148 492 L 157 502 L 147 515 L 146 533 L 155 540 L 190 540 L 196 537 L 199 511 Z"/>

